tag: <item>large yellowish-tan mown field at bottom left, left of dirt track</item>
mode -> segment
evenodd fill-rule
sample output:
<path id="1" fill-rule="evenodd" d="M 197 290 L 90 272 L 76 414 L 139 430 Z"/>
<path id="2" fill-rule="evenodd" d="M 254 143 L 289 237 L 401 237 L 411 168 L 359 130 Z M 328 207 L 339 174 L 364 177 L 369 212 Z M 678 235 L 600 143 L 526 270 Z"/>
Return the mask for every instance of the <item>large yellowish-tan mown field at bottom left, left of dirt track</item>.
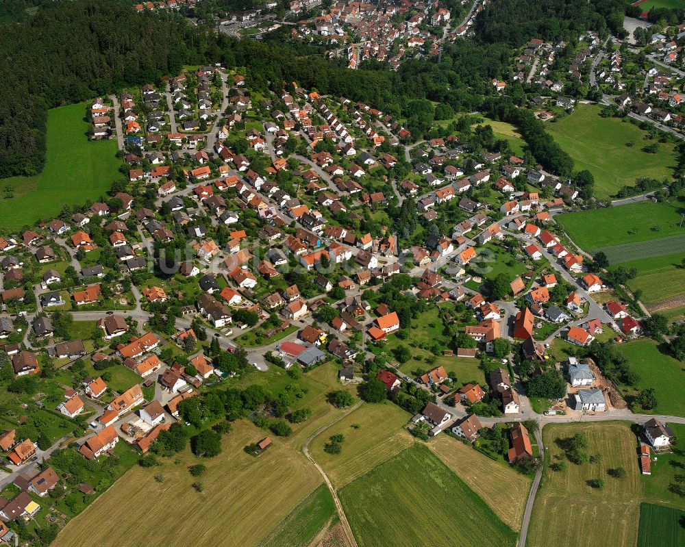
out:
<path id="1" fill-rule="evenodd" d="M 242 450 L 263 436 L 249 422 L 235 422 L 215 458 L 199 459 L 186 449 L 178 465 L 164 461 L 160 467 L 133 468 L 71 520 L 53 546 L 137 547 L 140 537 L 151 547 L 178 544 L 179 537 L 192 538 L 193 546 L 215 546 L 217 538 L 224 546 L 257 545 L 321 484 L 319 472 L 286 442 L 275 440 L 256 458 Z M 198 479 L 188 466 L 200 461 L 207 470 L 203 492 L 196 492 L 192 483 Z M 135 509 L 142 507 L 145 518 Z"/>

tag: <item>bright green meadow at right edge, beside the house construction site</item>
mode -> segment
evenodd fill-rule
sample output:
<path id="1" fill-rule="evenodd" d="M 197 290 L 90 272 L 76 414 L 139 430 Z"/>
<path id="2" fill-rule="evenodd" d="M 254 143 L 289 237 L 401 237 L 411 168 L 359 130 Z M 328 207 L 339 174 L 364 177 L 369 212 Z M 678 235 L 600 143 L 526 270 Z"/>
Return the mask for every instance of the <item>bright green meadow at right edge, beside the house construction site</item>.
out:
<path id="1" fill-rule="evenodd" d="M 656 390 L 658 406 L 647 414 L 685 416 L 685 373 L 683 365 L 670 355 L 662 353 L 653 340 L 636 340 L 619 346 L 631 370 L 640 377 L 636 387 L 622 386 L 621 392 L 630 400 L 637 390 L 653 387 Z"/>

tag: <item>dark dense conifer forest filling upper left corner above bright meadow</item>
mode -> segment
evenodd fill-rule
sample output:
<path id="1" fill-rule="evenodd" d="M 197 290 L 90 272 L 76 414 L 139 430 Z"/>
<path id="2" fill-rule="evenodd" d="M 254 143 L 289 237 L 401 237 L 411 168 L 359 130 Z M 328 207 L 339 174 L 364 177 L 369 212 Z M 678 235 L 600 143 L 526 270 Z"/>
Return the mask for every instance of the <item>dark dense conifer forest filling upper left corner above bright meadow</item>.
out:
<path id="1" fill-rule="evenodd" d="M 0 177 L 33 175 L 46 108 L 177 73 L 212 57 L 205 34 L 117 2 L 67 2 L 0 34 Z"/>

